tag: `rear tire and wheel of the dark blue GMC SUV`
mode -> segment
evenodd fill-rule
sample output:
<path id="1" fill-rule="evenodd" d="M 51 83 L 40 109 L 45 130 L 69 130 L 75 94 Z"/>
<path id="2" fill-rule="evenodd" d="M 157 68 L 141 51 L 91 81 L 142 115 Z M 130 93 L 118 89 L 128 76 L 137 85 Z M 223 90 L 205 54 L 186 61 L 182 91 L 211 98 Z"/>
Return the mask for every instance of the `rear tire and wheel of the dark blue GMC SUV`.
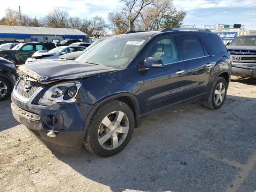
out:
<path id="1" fill-rule="evenodd" d="M 218 89 L 221 89 L 221 91 L 218 92 Z M 224 104 L 226 100 L 227 90 L 228 90 L 228 85 L 226 80 L 223 77 L 217 77 L 216 80 L 214 81 L 214 84 L 211 88 L 211 91 L 207 100 L 203 102 L 204 106 L 209 109 L 221 108 L 221 106 Z"/>

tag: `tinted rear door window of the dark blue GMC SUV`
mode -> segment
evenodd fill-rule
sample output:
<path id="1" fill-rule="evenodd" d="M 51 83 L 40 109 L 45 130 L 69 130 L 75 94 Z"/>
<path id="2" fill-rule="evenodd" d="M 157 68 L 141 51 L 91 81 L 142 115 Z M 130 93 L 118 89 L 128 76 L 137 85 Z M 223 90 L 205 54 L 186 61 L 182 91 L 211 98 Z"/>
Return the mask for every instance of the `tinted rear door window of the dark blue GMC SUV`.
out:
<path id="1" fill-rule="evenodd" d="M 204 48 L 200 40 L 194 35 L 178 36 L 180 42 L 180 49 L 184 60 L 202 57 L 204 55 Z"/>

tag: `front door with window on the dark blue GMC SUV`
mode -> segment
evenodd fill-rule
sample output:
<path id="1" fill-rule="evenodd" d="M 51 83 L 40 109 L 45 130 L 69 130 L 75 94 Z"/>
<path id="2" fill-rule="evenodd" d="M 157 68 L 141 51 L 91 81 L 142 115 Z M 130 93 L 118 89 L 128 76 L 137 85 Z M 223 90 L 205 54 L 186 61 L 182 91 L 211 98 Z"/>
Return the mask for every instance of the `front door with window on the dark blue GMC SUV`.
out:
<path id="1" fill-rule="evenodd" d="M 141 96 L 144 102 L 141 113 L 146 113 L 170 104 L 182 103 L 186 67 L 179 60 L 176 42 L 173 36 L 157 40 L 146 52 L 144 58 L 159 58 L 163 68 L 141 70 Z"/>

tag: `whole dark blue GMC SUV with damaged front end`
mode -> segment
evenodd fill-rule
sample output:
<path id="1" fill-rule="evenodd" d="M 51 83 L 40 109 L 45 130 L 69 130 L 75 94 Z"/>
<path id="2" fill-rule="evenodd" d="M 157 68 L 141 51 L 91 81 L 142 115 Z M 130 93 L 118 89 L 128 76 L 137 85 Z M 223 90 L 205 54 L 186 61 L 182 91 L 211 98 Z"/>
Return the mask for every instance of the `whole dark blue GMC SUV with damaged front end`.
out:
<path id="1" fill-rule="evenodd" d="M 14 117 L 49 148 L 112 156 L 152 112 L 201 99 L 218 109 L 232 58 L 217 34 L 166 28 L 108 38 L 76 60 L 20 66 Z"/>

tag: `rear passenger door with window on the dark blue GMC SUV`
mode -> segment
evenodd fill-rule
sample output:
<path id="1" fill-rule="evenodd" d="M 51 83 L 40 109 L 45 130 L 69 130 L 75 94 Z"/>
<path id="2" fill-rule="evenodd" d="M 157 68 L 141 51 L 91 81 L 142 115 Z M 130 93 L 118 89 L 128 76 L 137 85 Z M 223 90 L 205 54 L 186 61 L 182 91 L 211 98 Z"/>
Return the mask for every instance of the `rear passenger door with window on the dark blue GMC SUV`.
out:
<path id="1" fill-rule="evenodd" d="M 195 35 L 178 36 L 180 52 L 186 65 L 185 100 L 204 94 L 212 83 L 212 58 Z"/>

